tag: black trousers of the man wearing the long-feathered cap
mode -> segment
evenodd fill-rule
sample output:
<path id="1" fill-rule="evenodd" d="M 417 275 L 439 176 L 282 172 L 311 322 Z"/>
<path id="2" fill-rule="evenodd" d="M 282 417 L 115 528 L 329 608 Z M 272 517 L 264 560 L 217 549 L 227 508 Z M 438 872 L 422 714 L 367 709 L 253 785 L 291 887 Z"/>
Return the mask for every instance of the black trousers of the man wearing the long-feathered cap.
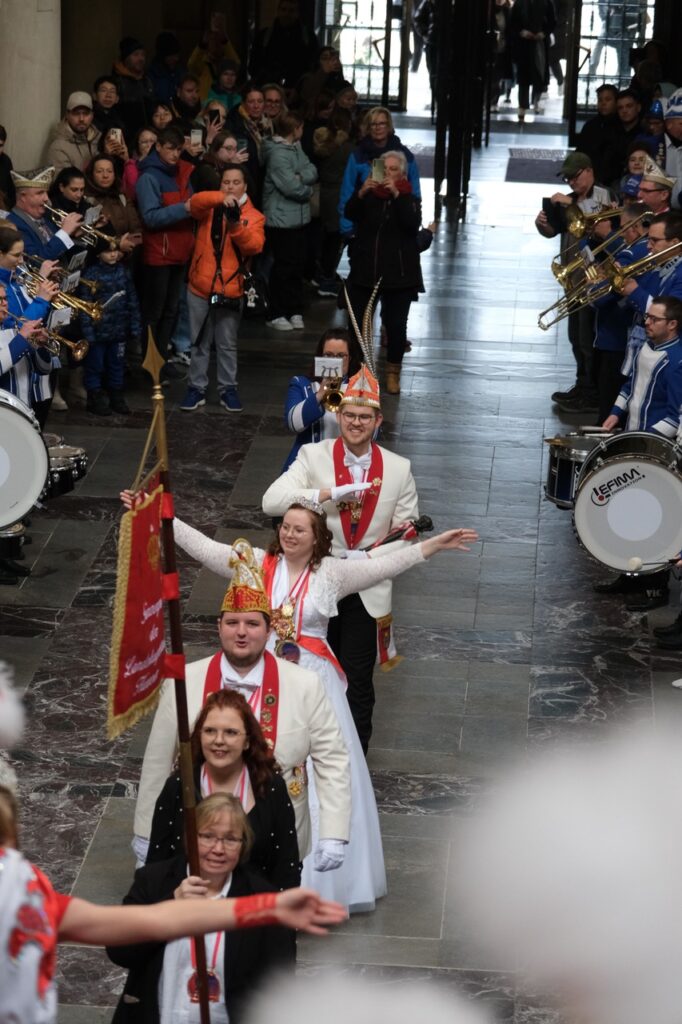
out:
<path id="1" fill-rule="evenodd" d="M 339 601 L 339 613 L 330 618 L 327 639 L 346 674 L 346 696 L 357 735 L 367 754 L 374 711 L 374 664 L 377 660 L 377 624 L 359 594 Z"/>

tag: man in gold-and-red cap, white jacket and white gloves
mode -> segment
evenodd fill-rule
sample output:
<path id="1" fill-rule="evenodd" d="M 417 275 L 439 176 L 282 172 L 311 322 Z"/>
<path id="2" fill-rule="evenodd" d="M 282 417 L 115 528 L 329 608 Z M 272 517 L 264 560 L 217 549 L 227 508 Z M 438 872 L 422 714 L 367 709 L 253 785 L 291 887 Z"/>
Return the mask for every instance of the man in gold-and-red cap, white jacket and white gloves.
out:
<path id="1" fill-rule="evenodd" d="M 218 616 L 221 649 L 187 666 L 189 721 L 215 690 L 229 687 L 247 697 L 289 788 L 302 857 L 311 847 L 306 793 L 306 760 L 311 759 L 319 802 L 314 864 L 317 870 L 333 870 L 343 862 L 349 835 L 348 751 L 319 678 L 265 650 L 272 611 L 261 571 L 246 541 L 233 547 L 235 574 Z M 155 802 L 171 770 L 176 742 L 174 684 L 166 680 L 144 752 L 135 809 L 133 845 L 140 859 L 146 856 Z"/>

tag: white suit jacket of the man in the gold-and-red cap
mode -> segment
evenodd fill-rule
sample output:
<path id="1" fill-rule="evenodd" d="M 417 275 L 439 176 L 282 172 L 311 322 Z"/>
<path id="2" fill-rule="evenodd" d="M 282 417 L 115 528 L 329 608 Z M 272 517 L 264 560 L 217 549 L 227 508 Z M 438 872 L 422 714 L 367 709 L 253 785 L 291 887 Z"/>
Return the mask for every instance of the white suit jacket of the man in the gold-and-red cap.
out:
<path id="1" fill-rule="evenodd" d="M 210 657 L 187 666 L 185 686 L 189 725 L 202 710 Z M 276 658 L 280 710 L 274 756 L 287 783 L 293 770 L 310 756 L 319 801 L 319 838 L 347 840 L 350 826 L 350 767 L 336 713 L 314 672 Z M 135 835 L 148 839 L 154 807 L 177 754 L 175 688 L 166 679 L 147 740 L 135 807 Z M 301 859 L 310 852 L 307 786 L 290 799 L 296 815 Z"/>

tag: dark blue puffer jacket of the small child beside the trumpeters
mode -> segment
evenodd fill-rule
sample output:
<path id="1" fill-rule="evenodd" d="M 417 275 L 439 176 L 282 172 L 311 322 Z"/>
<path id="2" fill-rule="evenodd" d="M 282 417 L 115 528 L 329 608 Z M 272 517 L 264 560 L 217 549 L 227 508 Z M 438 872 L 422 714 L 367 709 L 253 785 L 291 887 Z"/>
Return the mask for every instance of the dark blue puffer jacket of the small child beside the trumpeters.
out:
<path id="1" fill-rule="evenodd" d="M 96 298 L 97 302 L 104 303 L 117 292 L 124 294 L 112 302 L 111 306 L 106 306 L 101 319 L 94 321 L 91 316 L 81 316 L 80 324 L 85 340 L 91 345 L 118 344 L 138 335 L 142 329 L 139 304 L 130 270 L 125 263 L 112 264 L 97 260 L 88 267 L 88 281 L 98 281 L 99 288 L 96 296 L 93 296 L 89 289 L 81 285 L 78 294 L 83 299 Z"/>

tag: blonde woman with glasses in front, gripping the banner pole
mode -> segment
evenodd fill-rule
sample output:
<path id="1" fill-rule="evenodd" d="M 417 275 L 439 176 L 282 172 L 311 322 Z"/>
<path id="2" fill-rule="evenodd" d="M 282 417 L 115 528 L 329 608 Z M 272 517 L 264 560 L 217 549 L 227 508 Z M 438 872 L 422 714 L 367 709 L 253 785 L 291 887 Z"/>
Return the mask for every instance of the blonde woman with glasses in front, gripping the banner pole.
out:
<path id="1" fill-rule="evenodd" d="M 135 873 L 123 902 L 224 899 L 271 892 L 263 879 L 247 866 L 253 843 L 239 799 L 216 793 L 197 808 L 199 874 L 191 874 L 183 853 L 148 864 Z M 293 970 L 294 935 L 264 926 L 238 936 L 216 932 L 204 940 L 209 1002 L 213 1024 L 239 1024 L 247 999 L 273 969 Z M 145 942 L 108 947 L 110 959 L 129 970 L 114 1024 L 158 1021 L 179 1024 L 199 1020 L 197 950 L 194 939 Z"/>

